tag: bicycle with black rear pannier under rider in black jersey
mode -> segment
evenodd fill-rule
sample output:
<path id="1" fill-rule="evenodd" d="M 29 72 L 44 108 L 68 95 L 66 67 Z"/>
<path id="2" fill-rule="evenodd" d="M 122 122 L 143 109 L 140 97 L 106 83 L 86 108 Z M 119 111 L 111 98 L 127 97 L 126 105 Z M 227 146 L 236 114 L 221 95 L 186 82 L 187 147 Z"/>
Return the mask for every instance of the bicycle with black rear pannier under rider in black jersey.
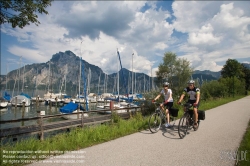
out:
<path id="1" fill-rule="evenodd" d="M 194 131 L 198 130 L 200 126 L 200 120 L 205 120 L 205 111 L 198 110 L 198 121 L 197 121 L 197 127 L 194 128 L 194 120 L 193 120 L 193 109 L 190 109 L 193 105 L 190 103 L 181 104 L 184 106 L 184 114 L 180 118 L 179 125 L 178 125 L 178 134 L 181 139 L 183 139 L 188 130 L 191 130 L 192 128 Z"/>

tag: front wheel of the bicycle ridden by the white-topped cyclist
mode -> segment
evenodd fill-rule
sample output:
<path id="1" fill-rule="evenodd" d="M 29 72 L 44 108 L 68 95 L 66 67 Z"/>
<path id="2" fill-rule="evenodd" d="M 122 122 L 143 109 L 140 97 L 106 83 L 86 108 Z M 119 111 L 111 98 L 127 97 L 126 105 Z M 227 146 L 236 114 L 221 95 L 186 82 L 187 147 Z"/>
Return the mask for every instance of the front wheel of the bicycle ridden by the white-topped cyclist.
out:
<path id="1" fill-rule="evenodd" d="M 160 114 L 159 113 L 153 113 L 150 116 L 149 121 L 148 121 L 149 130 L 152 133 L 156 133 L 157 131 L 160 130 L 161 123 L 162 123 L 162 120 L 161 120 Z"/>

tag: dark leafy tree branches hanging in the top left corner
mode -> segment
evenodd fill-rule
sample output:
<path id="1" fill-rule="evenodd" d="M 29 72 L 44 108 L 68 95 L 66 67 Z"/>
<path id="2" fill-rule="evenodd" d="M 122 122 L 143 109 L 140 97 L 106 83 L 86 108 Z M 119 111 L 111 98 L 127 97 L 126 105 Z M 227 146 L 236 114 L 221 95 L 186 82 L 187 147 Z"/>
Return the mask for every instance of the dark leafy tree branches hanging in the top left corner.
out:
<path id="1" fill-rule="evenodd" d="M 11 23 L 12 28 L 23 28 L 34 23 L 38 26 L 36 13 L 48 14 L 46 7 L 51 6 L 52 0 L 0 0 L 0 25 Z"/>

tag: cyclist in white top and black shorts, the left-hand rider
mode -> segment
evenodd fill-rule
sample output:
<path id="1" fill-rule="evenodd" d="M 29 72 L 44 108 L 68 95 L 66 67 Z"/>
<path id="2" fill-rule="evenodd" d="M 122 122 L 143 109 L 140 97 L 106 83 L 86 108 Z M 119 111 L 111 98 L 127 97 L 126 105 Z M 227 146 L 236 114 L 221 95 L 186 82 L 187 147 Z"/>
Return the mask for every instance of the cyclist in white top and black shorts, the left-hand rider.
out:
<path id="1" fill-rule="evenodd" d="M 158 98 L 161 97 L 161 95 L 164 95 L 164 103 L 162 103 L 160 106 L 162 108 L 162 110 L 164 110 L 164 107 L 166 108 L 166 115 L 167 115 L 167 123 L 165 124 L 165 127 L 170 127 L 169 124 L 169 110 L 171 109 L 171 107 L 173 106 L 173 97 L 172 97 L 172 90 L 169 89 L 169 83 L 168 82 L 164 82 L 163 83 L 163 89 L 161 90 L 160 94 L 157 95 L 153 102 L 155 100 L 157 100 Z"/>

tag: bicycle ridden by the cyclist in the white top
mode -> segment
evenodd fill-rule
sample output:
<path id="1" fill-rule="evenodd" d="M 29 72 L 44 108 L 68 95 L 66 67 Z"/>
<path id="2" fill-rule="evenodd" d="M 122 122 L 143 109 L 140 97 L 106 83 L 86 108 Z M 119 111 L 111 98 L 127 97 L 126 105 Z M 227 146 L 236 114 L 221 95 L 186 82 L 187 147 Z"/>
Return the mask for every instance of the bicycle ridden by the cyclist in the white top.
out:
<path id="1" fill-rule="evenodd" d="M 149 126 L 149 130 L 152 133 L 156 133 L 160 130 L 161 125 L 165 124 L 167 120 L 166 120 L 165 110 L 163 111 L 161 109 L 160 103 L 156 103 L 156 102 L 153 102 L 153 103 L 157 108 L 155 109 L 155 112 L 150 116 L 149 121 L 148 121 L 148 126 Z M 171 122 L 173 122 L 171 126 L 174 126 L 175 124 L 176 117 L 178 116 L 178 111 L 179 111 L 178 109 L 174 109 L 174 108 L 171 108 L 169 110 L 169 116 L 170 116 L 169 119 Z"/>

